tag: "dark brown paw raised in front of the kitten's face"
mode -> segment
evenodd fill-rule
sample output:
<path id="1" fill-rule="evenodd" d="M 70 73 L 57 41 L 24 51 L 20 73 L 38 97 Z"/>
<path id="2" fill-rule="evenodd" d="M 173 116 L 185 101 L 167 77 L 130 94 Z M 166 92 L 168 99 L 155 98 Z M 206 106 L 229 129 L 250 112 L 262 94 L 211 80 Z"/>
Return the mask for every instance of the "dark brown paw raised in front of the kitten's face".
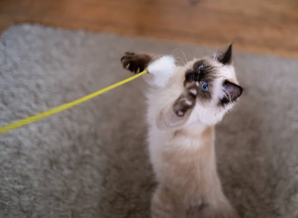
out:
<path id="1" fill-rule="evenodd" d="M 177 116 L 184 116 L 189 109 L 193 109 L 198 96 L 199 83 L 193 82 L 186 86 L 184 92 L 179 96 L 173 105 Z"/>

